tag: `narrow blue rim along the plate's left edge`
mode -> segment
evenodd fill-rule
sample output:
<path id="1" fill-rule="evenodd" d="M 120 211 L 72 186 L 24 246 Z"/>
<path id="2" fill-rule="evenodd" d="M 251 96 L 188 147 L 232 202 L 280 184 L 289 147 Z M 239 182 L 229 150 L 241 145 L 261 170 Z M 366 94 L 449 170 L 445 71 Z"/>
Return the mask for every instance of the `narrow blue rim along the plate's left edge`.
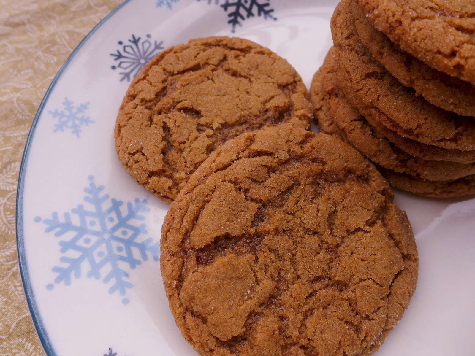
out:
<path id="1" fill-rule="evenodd" d="M 39 104 L 38 111 L 36 112 L 35 118 L 31 124 L 31 128 L 28 132 L 28 138 L 25 144 L 25 149 L 23 151 L 23 156 L 21 158 L 20 170 L 19 170 L 19 177 L 18 177 L 18 186 L 17 186 L 17 199 L 16 199 L 16 210 L 15 210 L 15 228 L 16 228 L 16 237 L 17 237 L 17 254 L 18 254 L 18 261 L 19 261 L 19 270 L 21 275 L 21 281 L 23 283 L 23 290 L 25 291 L 28 308 L 31 314 L 31 318 L 33 319 L 33 324 L 35 325 L 36 332 L 39 337 L 39 341 L 43 346 L 47 356 L 57 356 L 56 351 L 53 348 L 51 340 L 48 337 L 47 331 L 45 330 L 42 320 L 39 315 L 39 311 L 37 308 L 37 304 L 35 302 L 35 295 L 33 293 L 33 289 L 31 288 L 30 278 L 28 274 L 28 264 L 26 261 L 26 256 L 24 251 L 24 239 L 23 239 L 23 188 L 24 188 L 24 178 L 26 174 L 26 166 L 28 162 L 28 154 L 30 149 L 31 139 L 35 133 L 35 128 L 38 123 L 39 117 L 43 112 L 43 107 L 49 98 L 49 94 L 57 84 L 57 81 L 63 74 L 66 67 L 69 65 L 71 60 L 74 56 L 76 56 L 77 52 L 83 47 L 85 42 L 109 19 L 111 18 L 119 9 L 121 9 L 125 4 L 130 2 L 130 0 L 125 0 L 122 4 L 117 6 L 114 10 L 112 10 L 104 19 L 102 19 L 95 27 L 81 40 L 81 42 L 77 45 L 74 51 L 67 57 L 66 62 L 59 68 L 57 74 L 55 75 L 51 84 L 41 100 Z"/>

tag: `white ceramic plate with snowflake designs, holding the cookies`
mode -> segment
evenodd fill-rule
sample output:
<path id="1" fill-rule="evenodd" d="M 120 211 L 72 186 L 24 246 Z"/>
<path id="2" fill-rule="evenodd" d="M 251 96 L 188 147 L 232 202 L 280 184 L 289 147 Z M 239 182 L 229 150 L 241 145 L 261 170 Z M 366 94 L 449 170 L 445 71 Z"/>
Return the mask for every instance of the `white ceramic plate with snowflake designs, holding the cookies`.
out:
<path id="1" fill-rule="evenodd" d="M 76 48 L 38 109 L 19 178 L 21 273 L 48 356 L 196 355 L 173 321 L 160 277 L 168 206 L 116 158 L 118 107 L 129 81 L 163 48 L 233 31 L 285 57 L 309 85 L 332 45 L 335 5 L 131 0 Z M 417 234 L 419 283 L 377 355 L 474 355 L 475 202 L 405 193 L 396 202 Z"/>

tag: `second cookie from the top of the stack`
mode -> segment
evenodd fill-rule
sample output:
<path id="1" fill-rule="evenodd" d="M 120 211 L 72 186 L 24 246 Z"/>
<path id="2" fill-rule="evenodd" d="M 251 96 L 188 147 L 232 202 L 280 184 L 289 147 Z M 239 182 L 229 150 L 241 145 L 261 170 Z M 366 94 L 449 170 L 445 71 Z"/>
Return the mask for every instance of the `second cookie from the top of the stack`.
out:
<path id="1" fill-rule="evenodd" d="M 361 42 L 402 84 L 411 86 L 429 103 L 460 115 L 475 116 L 475 86 L 439 72 L 391 42 L 371 25 L 365 13 L 352 3 L 352 14 Z"/>

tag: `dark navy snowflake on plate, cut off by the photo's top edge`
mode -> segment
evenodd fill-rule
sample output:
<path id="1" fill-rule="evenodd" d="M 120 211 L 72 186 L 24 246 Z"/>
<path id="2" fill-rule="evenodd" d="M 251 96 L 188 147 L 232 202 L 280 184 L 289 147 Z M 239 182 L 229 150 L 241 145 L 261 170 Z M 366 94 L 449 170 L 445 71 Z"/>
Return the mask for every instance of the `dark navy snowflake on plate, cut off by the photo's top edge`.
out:
<path id="1" fill-rule="evenodd" d="M 201 1 L 201 0 L 198 0 Z M 213 0 L 207 0 L 211 4 Z M 219 0 L 215 0 L 215 4 L 219 4 Z M 264 19 L 277 20 L 272 15 L 274 9 L 269 9 L 270 0 L 225 0 L 224 4 L 220 5 L 228 13 L 228 24 L 231 25 L 231 32 L 236 32 L 237 26 L 242 26 L 242 21 L 256 16 L 262 16 Z"/>

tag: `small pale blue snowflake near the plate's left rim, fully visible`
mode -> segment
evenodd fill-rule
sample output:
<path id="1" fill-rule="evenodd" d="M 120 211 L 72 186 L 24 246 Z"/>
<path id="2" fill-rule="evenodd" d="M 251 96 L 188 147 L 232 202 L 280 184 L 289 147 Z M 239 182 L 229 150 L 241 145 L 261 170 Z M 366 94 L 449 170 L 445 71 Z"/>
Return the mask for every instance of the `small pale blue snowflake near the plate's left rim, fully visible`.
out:
<path id="1" fill-rule="evenodd" d="M 76 135 L 76 137 L 79 138 L 81 126 L 87 126 L 90 123 L 94 123 L 89 116 L 81 115 L 89 109 L 87 107 L 89 102 L 80 103 L 78 106 L 74 106 L 74 102 L 70 102 L 65 98 L 62 104 L 64 106 L 63 110 L 59 111 L 58 109 L 55 109 L 54 111 L 49 111 L 49 113 L 53 115 L 53 119 L 57 119 L 58 121 L 54 126 L 55 128 L 53 132 L 63 132 L 65 129 L 69 129 L 73 135 Z"/>

